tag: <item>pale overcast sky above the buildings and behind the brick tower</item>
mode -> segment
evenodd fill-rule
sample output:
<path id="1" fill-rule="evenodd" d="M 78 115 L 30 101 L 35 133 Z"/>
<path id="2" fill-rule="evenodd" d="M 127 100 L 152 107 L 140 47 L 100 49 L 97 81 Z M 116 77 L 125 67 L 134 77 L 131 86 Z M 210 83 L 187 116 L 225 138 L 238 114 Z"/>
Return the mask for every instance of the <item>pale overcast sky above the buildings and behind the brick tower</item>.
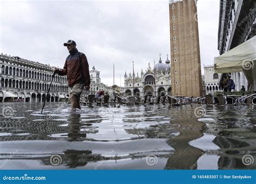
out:
<path id="1" fill-rule="evenodd" d="M 201 64 L 218 56 L 219 0 L 198 1 Z M 124 85 L 124 73 L 170 55 L 169 1 L 1 1 L 1 52 L 63 67 L 73 39 L 101 81 Z M 169 56 L 170 58 L 170 56 Z"/>

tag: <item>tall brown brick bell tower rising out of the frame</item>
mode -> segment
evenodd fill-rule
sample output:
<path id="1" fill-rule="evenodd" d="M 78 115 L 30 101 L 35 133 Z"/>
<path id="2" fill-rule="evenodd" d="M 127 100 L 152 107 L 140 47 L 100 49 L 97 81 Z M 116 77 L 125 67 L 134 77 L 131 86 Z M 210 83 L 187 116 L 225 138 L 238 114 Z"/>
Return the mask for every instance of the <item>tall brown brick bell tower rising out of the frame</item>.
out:
<path id="1" fill-rule="evenodd" d="M 202 96 L 197 0 L 170 0 L 172 95 Z"/>

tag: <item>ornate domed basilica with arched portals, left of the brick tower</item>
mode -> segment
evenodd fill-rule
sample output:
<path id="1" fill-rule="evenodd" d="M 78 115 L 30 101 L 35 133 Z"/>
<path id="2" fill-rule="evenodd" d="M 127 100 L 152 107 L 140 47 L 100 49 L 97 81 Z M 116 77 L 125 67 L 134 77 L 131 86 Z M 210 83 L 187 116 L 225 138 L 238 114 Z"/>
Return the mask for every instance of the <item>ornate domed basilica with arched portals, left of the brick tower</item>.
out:
<path id="1" fill-rule="evenodd" d="M 171 95 L 171 65 L 170 60 L 165 62 L 160 59 L 158 63 L 151 68 L 150 63 L 146 70 L 143 69 L 137 76 L 131 74 L 124 75 L 124 87 L 121 88 L 123 96 L 164 96 Z"/>

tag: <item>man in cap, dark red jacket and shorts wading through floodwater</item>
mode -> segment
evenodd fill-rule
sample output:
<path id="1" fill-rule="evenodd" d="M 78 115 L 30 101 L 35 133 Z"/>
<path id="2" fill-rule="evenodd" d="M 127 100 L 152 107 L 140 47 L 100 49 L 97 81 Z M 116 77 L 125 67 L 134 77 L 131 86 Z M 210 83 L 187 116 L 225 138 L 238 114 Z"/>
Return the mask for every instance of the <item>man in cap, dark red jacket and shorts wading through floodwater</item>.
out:
<path id="1" fill-rule="evenodd" d="M 85 54 L 78 52 L 75 41 L 68 40 L 64 46 L 68 48 L 70 54 L 66 58 L 63 69 L 53 68 L 53 72 L 58 75 L 67 75 L 71 108 L 72 110 L 81 109 L 79 101 L 84 86 L 86 90 L 90 89 L 89 65 Z"/>

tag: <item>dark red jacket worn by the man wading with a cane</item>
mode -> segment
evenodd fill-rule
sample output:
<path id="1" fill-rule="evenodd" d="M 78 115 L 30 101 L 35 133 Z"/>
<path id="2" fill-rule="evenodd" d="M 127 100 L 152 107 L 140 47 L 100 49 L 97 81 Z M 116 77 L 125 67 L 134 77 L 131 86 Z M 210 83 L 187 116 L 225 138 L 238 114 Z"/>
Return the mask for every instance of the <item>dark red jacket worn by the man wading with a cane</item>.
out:
<path id="1" fill-rule="evenodd" d="M 84 53 L 78 52 L 77 49 L 68 55 L 63 69 L 56 70 L 56 73 L 58 75 L 67 75 L 69 87 L 76 83 L 90 86 L 91 79 L 87 58 Z"/>

